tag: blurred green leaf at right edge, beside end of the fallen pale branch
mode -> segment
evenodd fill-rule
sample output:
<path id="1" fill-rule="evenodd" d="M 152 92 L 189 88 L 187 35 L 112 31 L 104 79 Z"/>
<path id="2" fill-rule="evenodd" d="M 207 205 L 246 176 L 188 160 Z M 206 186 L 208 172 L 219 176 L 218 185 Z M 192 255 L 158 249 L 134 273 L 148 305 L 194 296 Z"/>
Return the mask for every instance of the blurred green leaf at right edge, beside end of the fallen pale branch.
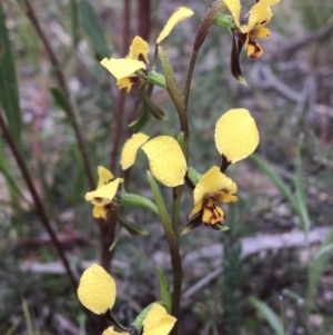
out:
<path id="1" fill-rule="evenodd" d="M 333 249 L 333 228 L 330 230 L 327 237 L 322 243 L 321 248 L 314 259 L 311 262 L 309 267 L 309 284 L 307 284 L 307 293 L 306 293 L 306 302 L 310 306 L 313 306 L 315 290 L 320 283 L 321 275 L 325 269 L 331 252 Z"/>

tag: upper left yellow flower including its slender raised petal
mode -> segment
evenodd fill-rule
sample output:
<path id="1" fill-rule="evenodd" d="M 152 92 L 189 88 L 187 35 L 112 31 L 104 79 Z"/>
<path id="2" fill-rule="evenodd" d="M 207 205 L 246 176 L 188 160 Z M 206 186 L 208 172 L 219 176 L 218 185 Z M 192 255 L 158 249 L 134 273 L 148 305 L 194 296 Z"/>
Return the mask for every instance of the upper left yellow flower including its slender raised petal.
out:
<path id="1" fill-rule="evenodd" d="M 157 43 L 161 43 L 179 22 L 190 18 L 192 14 L 193 11 L 186 7 L 178 8 L 159 35 Z M 104 58 L 101 61 L 101 65 L 115 77 L 119 89 L 127 89 L 127 92 L 130 92 L 132 85 L 140 81 L 140 78 L 137 77 L 135 72 L 145 70 L 149 65 L 149 43 L 141 37 L 135 36 L 130 46 L 130 52 L 125 58 Z"/>

